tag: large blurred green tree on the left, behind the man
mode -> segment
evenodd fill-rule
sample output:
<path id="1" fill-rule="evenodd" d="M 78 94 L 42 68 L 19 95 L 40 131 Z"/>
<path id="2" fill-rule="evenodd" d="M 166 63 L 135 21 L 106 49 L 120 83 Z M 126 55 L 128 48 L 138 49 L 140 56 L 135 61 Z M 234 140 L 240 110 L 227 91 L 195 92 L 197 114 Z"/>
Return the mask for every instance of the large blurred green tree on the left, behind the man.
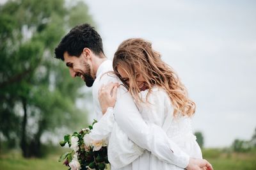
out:
<path id="1" fill-rule="evenodd" d="M 41 138 L 86 123 L 77 109 L 83 82 L 71 79 L 54 47 L 77 24 L 92 23 L 81 1 L 14 0 L 0 6 L 0 143 L 40 156 Z"/>

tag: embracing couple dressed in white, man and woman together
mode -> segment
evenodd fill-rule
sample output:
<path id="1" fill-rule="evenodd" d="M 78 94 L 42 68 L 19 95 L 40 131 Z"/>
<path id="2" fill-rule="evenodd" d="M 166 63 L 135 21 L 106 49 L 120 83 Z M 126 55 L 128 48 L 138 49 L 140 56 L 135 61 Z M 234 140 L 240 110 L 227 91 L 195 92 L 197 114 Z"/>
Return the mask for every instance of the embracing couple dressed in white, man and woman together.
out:
<path id="1" fill-rule="evenodd" d="M 108 139 L 111 169 L 212 169 L 191 130 L 195 103 L 150 42 L 122 42 L 113 61 L 89 24 L 76 26 L 55 49 L 72 77 L 92 87 L 98 123 L 93 140 Z"/>

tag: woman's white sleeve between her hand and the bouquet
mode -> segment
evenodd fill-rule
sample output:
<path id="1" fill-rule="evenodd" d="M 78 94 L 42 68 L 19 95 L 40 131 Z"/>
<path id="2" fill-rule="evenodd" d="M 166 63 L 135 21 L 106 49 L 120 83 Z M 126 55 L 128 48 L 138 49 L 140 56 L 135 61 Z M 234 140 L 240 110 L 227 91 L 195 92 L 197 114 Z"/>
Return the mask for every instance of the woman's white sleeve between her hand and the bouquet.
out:
<path id="1" fill-rule="evenodd" d="M 113 107 L 108 107 L 102 118 L 93 125 L 90 138 L 96 141 L 106 139 L 113 129 L 114 122 Z"/>

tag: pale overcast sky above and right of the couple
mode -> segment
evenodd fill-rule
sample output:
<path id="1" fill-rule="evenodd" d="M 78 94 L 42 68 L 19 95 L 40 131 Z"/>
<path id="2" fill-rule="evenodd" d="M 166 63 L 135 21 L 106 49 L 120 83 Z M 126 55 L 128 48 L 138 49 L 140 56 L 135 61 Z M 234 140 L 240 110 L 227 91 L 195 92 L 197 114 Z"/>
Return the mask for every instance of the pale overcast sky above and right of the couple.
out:
<path id="1" fill-rule="evenodd" d="M 256 1 L 86 0 L 108 58 L 127 38 L 153 43 L 188 88 L 205 146 L 256 128 Z"/>

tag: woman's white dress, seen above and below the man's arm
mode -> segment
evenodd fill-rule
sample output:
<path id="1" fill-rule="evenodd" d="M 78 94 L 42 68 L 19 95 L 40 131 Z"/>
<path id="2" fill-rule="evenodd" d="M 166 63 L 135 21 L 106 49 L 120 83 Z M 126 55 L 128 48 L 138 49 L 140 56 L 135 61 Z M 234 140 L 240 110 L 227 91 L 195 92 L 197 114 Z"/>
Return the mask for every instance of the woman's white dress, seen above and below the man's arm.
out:
<path id="1" fill-rule="evenodd" d="M 147 93 L 148 90 L 141 91 L 140 96 L 145 103 L 137 104 L 143 119 L 147 123 L 154 123 L 166 130 L 168 137 L 189 157 L 202 158 L 202 152 L 192 133 L 191 118 L 180 115 L 173 116 L 173 107 L 164 89 L 153 88 L 148 98 Z M 146 98 L 149 104 L 146 102 Z M 147 150 L 129 166 L 132 167 L 130 169 L 182 169 L 159 160 Z"/>

